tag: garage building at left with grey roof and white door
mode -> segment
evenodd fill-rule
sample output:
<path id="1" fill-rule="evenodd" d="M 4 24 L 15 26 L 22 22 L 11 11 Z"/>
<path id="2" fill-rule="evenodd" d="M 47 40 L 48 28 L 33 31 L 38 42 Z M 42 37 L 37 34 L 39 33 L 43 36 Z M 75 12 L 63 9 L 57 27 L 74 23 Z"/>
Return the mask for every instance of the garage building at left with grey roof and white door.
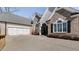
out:
<path id="1" fill-rule="evenodd" d="M 31 34 L 31 22 L 25 17 L 1 13 L 0 33 L 3 35 L 29 35 Z"/>

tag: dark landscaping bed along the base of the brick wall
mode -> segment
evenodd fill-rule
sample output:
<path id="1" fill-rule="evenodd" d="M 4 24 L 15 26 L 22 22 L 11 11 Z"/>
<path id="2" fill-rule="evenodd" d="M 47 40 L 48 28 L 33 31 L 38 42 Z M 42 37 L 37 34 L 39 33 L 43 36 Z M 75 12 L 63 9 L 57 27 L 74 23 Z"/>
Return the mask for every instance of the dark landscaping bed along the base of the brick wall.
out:
<path id="1" fill-rule="evenodd" d="M 77 40 L 77 41 L 79 41 L 79 35 L 75 35 L 75 34 L 53 33 L 53 34 L 49 34 L 47 36 L 51 37 L 51 38 L 60 38 L 60 39 Z"/>

